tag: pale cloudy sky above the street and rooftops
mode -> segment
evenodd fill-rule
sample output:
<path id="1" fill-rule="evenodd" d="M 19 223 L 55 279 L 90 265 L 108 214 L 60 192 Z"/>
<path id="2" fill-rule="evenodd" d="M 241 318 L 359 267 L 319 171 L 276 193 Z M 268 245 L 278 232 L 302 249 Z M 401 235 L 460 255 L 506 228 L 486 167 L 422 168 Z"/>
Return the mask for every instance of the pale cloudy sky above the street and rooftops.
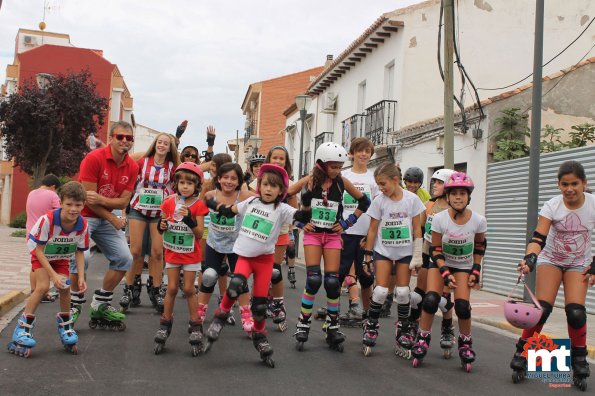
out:
<path id="1" fill-rule="evenodd" d="M 383 13 L 421 0 L 3 0 L 0 81 L 19 28 L 66 33 L 76 47 L 103 50 L 134 98 L 136 122 L 175 132 L 181 147 L 216 152 L 243 134 L 241 104 L 251 83 L 322 66 Z"/>

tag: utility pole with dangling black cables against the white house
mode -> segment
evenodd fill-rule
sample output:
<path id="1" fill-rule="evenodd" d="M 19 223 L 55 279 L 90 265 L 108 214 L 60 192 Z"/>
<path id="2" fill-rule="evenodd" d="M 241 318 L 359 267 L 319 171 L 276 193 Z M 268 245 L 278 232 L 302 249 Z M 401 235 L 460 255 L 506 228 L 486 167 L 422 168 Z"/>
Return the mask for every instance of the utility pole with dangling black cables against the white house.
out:
<path id="1" fill-rule="evenodd" d="M 454 169 L 454 0 L 444 0 L 444 167 Z"/>

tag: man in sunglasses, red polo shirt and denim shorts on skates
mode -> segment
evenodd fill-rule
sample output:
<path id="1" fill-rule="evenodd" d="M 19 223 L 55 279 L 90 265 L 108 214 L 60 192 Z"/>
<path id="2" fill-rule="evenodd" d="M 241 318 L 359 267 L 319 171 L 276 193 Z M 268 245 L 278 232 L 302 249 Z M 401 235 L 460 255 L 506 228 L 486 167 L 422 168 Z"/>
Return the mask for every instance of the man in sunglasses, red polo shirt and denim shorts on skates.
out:
<path id="1" fill-rule="evenodd" d="M 113 290 L 120 283 L 132 265 L 132 255 L 128 249 L 122 229 L 125 221 L 112 213 L 123 210 L 130 202 L 134 183 L 138 175 L 138 165 L 128 152 L 134 142 L 134 130 L 126 121 L 111 125 L 108 144 L 105 148 L 93 150 L 81 162 L 79 181 L 87 190 L 87 201 L 82 215 L 89 226 L 89 236 L 101 249 L 109 261 L 109 269 L 103 278 L 100 289 L 95 290 L 91 302 L 91 328 L 113 328 L 124 330 L 124 314 L 111 306 Z M 85 268 L 89 255 L 85 252 Z M 71 265 L 71 295 L 73 310 L 78 318 L 82 303 L 82 293 L 78 293 L 76 267 Z"/>

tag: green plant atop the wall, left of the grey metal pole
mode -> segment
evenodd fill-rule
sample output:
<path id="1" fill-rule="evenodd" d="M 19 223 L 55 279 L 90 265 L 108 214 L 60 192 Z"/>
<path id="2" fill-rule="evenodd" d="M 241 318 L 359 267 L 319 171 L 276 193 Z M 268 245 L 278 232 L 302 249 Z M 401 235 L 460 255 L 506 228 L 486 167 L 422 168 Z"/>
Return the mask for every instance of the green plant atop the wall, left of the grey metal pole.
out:
<path id="1" fill-rule="evenodd" d="M 504 109 L 502 117 L 496 118 L 496 124 L 500 130 L 496 134 L 495 161 L 506 161 L 515 158 L 522 158 L 529 155 L 529 146 L 525 138 L 530 136 L 519 108 Z"/>

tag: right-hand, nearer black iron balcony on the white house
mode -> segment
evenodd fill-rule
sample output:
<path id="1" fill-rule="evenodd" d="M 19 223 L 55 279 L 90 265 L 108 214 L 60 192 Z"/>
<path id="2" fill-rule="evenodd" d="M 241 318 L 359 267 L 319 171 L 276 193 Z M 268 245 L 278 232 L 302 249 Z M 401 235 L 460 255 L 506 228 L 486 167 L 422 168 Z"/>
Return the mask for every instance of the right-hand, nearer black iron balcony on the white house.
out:
<path id="1" fill-rule="evenodd" d="M 365 136 L 375 146 L 393 143 L 391 133 L 396 130 L 397 101 L 381 100 L 366 109 Z"/>

